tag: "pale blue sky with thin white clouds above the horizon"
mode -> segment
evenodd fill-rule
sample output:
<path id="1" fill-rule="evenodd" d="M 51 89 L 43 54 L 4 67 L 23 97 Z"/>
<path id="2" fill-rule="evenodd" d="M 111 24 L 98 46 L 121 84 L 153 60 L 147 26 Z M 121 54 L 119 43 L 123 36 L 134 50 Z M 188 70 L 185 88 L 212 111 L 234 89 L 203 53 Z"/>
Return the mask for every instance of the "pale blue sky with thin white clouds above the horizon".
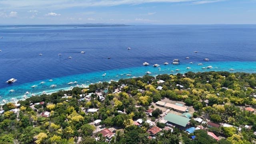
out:
<path id="1" fill-rule="evenodd" d="M 0 24 L 256 24 L 256 0 L 0 0 Z"/>

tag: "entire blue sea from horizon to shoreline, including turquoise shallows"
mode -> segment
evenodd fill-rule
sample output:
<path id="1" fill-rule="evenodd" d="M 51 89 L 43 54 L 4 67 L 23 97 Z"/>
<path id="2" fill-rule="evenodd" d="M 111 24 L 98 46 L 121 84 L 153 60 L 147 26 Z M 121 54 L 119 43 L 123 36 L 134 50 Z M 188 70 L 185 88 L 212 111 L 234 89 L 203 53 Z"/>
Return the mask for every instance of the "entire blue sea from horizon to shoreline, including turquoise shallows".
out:
<path id="1" fill-rule="evenodd" d="M 147 71 L 254 73 L 256 25 L 0 26 L 0 50 L 1 104 Z M 17 81 L 6 83 L 10 78 Z"/>

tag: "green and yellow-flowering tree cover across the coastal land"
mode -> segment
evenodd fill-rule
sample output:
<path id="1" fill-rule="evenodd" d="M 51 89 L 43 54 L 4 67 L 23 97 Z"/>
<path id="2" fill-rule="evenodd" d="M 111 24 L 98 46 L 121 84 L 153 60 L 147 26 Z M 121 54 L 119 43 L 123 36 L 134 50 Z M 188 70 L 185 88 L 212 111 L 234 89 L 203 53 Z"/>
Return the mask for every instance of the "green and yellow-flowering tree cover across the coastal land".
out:
<path id="1" fill-rule="evenodd" d="M 158 86 L 162 90 L 158 90 Z M 90 98 L 86 98 L 88 94 Z M 256 114 L 245 108 L 256 107 L 255 94 L 256 74 L 241 72 L 145 75 L 91 84 L 88 88 L 74 87 L 69 91 L 32 96 L 19 101 L 18 108 L 12 103 L 3 105 L 0 144 L 250 144 L 256 142 Z M 173 132 L 165 130 L 166 125 L 158 122 L 163 112 L 154 106 L 163 99 L 192 107 L 193 118 L 235 127 L 207 128 L 207 124 L 202 124 L 204 129 L 193 134 L 178 128 Z M 10 111 L 15 108 L 17 112 Z M 97 112 L 88 112 L 92 108 Z M 152 116 L 146 114 L 149 109 L 153 109 Z M 49 112 L 49 116 L 42 115 L 43 112 Z M 193 118 L 190 126 L 200 125 Z M 150 138 L 148 130 L 152 126 L 146 122 L 134 125 L 138 119 L 151 120 L 163 130 Z M 95 120 L 101 120 L 100 128 L 95 126 Z M 113 127 L 115 134 L 106 142 L 99 130 Z M 215 140 L 207 131 L 221 139 Z"/>

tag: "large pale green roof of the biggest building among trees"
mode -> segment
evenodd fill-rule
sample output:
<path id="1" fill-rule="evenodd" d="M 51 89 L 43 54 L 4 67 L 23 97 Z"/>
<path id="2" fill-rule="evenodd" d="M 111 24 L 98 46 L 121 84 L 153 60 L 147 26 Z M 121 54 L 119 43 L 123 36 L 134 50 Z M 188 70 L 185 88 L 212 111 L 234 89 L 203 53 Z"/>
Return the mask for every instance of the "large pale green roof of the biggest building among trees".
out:
<path id="1" fill-rule="evenodd" d="M 177 114 L 167 114 L 164 117 L 164 120 L 172 122 L 173 124 L 178 124 L 183 127 L 186 127 L 187 123 L 190 121 L 189 118 L 185 118 L 184 116 L 179 116 Z"/>

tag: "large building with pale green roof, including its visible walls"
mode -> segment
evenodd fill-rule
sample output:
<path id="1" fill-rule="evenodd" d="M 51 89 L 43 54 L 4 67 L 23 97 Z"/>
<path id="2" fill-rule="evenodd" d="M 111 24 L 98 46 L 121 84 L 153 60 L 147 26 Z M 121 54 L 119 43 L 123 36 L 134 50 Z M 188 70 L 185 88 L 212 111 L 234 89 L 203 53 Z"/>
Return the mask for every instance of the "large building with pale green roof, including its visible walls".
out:
<path id="1" fill-rule="evenodd" d="M 189 118 L 186 118 L 184 116 L 179 116 L 176 114 L 167 114 L 164 117 L 164 120 L 167 121 L 167 125 L 176 126 L 182 130 L 185 130 L 187 128 L 187 124 L 190 121 Z"/>

